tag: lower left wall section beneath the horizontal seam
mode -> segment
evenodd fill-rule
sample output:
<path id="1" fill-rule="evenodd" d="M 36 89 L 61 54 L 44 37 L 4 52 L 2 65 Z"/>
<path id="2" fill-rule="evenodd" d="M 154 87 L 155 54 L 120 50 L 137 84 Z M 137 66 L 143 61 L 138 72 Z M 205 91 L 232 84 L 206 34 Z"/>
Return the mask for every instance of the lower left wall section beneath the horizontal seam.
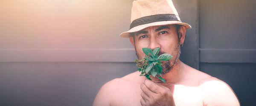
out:
<path id="1" fill-rule="evenodd" d="M 0 67 L 0 106 L 91 106 L 103 84 L 136 70 L 126 62 L 5 62 Z"/>

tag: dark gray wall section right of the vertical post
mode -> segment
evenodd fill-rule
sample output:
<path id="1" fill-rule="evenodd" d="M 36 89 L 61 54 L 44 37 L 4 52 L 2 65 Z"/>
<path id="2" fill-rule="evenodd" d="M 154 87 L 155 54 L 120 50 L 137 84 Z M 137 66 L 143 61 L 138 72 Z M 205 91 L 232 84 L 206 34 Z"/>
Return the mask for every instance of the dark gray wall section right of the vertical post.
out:
<path id="1" fill-rule="evenodd" d="M 200 70 L 255 106 L 256 0 L 199 0 Z"/>

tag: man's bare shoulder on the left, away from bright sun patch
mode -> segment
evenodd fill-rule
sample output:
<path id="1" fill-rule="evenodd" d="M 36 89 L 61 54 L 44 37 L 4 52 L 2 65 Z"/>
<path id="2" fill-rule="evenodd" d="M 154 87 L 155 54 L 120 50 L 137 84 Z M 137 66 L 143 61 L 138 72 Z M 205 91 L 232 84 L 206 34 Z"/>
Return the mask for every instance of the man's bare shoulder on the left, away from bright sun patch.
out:
<path id="1" fill-rule="evenodd" d="M 122 78 L 115 78 L 101 87 L 94 99 L 93 106 L 110 106 L 116 101 L 121 103 L 124 100 L 123 95 L 131 95 L 131 92 L 139 89 L 137 87 L 140 87 L 140 76 L 137 72 L 125 75 Z"/>

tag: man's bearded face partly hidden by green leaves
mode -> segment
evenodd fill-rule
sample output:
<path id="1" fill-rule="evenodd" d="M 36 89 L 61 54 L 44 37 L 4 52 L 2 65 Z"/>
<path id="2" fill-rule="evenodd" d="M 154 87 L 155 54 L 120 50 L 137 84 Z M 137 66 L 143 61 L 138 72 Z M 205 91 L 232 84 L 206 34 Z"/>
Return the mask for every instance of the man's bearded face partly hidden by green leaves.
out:
<path id="1" fill-rule="evenodd" d="M 159 25 L 145 28 L 134 33 L 134 40 L 136 54 L 139 59 L 146 56 L 142 50 L 144 47 L 151 50 L 160 47 L 158 56 L 163 53 L 169 53 L 173 56 L 169 61 L 161 61 L 163 63 L 161 74 L 168 73 L 177 64 L 180 56 L 180 42 L 175 25 Z"/>

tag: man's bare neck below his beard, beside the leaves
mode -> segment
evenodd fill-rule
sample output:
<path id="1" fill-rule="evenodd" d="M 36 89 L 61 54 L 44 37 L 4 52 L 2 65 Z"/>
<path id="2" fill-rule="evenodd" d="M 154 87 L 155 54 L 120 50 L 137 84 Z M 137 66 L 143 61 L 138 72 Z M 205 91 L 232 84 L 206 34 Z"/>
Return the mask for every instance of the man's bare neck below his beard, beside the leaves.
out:
<path id="1" fill-rule="evenodd" d="M 157 84 L 161 84 L 163 86 L 172 86 L 181 81 L 181 78 L 183 76 L 183 68 L 184 68 L 184 63 L 180 60 L 177 61 L 175 66 L 170 70 L 168 73 L 163 75 L 163 79 L 165 79 L 166 84 L 163 83 L 160 79 L 157 77 L 151 78 L 152 81 L 156 82 Z"/>

